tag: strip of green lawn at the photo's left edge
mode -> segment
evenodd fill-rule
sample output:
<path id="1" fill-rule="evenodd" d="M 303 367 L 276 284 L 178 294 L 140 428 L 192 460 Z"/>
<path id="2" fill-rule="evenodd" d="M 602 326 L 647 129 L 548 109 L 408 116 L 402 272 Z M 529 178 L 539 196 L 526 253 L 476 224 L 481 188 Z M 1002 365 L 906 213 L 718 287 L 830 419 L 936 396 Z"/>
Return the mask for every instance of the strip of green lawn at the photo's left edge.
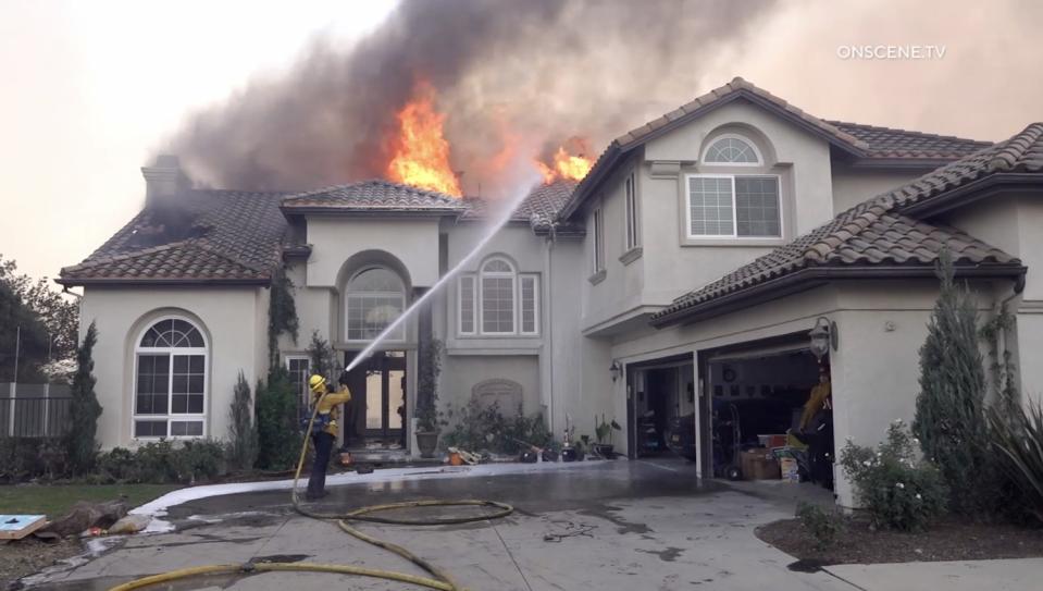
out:
<path id="1" fill-rule="evenodd" d="M 0 514 L 47 515 L 54 519 L 77 501 L 113 501 L 126 495 L 137 507 L 181 487 L 174 484 L 24 484 L 0 487 Z"/>

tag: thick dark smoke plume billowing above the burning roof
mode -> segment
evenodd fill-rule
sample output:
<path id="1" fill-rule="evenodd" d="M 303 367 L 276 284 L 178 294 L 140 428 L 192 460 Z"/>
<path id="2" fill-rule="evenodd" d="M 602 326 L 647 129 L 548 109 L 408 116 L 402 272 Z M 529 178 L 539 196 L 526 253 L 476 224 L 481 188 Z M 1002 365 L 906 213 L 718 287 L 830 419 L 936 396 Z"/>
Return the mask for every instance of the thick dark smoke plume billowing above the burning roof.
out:
<path id="1" fill-rule="evenodd" d="M 287 75 L 196 114 L 172 146 L 219 187 L 384 176 L 395 113 L 424 79 L 447 114 L 464 192 L 496 195 L 510 164 L 573 136 L 599 150 L 694 97 L 700 57 L 769 2 L 406 1 L 348 49 L 316 39 Z"/>

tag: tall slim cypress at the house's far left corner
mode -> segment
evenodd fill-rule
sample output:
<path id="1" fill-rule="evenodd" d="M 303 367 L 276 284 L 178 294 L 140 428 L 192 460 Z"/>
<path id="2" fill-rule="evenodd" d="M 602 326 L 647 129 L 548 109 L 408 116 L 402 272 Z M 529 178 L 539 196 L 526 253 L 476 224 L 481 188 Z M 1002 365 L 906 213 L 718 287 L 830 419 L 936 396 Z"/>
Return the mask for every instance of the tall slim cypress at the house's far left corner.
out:
<path id="1" fill-rule="evenodd" d="M 72 418 L 69 433 L 65 434 L 65 457 L 73 475 L 87 473 L 95 463 L 98 444 L 95 434 L 98 430 L 98 417 L 101 405 L 95 395 L 95 369 L 92 358 L 98 342 L 98 329 L 91 322 L 84 335 L 83 344 L 76 349 L 76 374 L 73 377 L 72 403 L 69 416 Z"/>

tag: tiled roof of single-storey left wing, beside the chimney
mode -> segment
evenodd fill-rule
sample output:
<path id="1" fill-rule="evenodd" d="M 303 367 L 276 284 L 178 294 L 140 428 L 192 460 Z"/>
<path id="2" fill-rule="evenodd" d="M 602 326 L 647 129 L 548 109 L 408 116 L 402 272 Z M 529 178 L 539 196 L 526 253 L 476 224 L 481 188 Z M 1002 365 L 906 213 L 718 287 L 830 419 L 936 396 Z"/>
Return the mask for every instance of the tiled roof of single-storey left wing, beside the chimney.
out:
<path id="1" fill-rule="evenodd" d="M 194 189 L 176 210 L 146 208 L 83 262 L 62 285 L 99 283 L 268 284 L 280 261 L 285 194 Z"/>

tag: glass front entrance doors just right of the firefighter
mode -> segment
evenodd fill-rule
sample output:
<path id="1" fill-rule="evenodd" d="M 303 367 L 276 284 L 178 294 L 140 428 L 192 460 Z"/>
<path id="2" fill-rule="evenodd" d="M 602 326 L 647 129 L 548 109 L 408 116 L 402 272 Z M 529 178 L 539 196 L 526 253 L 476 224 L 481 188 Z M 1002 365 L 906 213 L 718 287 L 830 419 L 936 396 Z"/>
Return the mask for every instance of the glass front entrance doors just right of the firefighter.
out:
<path id="1" fill-rule="evenodd" d="M 351 370 L 348 381 L 355 396 L 345 418 L 345 445 L 405 447 L 406 352 L 373 354 Z"/>

